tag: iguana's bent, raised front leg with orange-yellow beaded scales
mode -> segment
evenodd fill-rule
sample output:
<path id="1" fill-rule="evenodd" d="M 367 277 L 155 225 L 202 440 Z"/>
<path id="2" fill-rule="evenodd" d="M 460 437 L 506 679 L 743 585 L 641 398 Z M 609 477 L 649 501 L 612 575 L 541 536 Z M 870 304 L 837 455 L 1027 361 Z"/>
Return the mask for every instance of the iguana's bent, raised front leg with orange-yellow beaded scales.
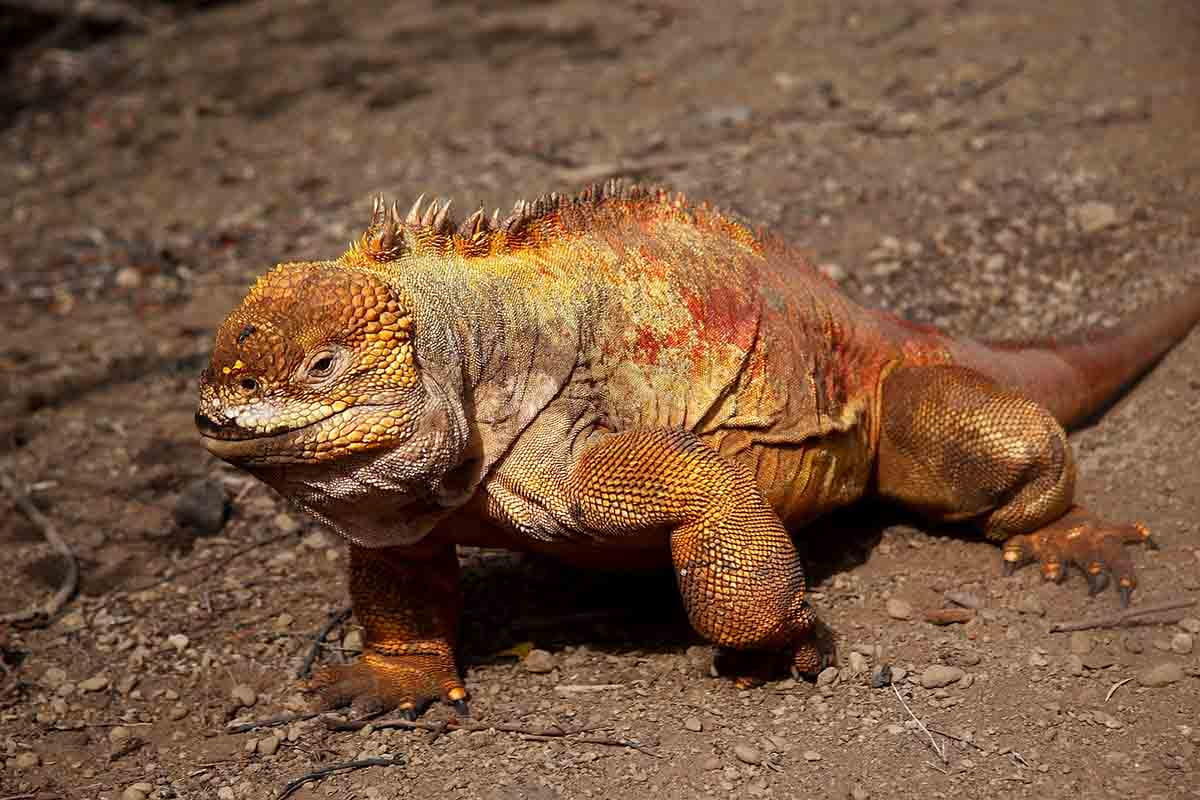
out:
<path id="1" fill-rule="evenodd" d="M 688 618 L 707 639 L 820 669 L 799 555 L 744 467 L 686 431 L 630 431 L 589 446 L 565 495 L 592 535 L 670 531 Z"/>

